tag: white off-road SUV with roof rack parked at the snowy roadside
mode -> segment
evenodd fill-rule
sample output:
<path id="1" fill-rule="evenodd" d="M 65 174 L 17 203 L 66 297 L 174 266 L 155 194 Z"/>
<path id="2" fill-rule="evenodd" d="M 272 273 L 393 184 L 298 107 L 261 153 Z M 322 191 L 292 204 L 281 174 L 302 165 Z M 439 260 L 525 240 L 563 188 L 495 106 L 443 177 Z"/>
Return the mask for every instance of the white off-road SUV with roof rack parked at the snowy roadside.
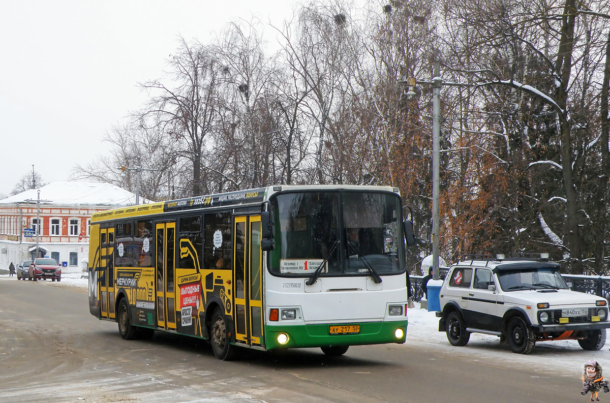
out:
<path id="1" fill-rule="evenodd" d="M 454 346 L 465 346 L 470 333 L 495 335 L 520 354 L 547 340 L 601 349 L 610 327 L 608 301 L 571 291 L 559 264 L 538 256 L 462 255 L 440 288 L 439 332 Z"/>

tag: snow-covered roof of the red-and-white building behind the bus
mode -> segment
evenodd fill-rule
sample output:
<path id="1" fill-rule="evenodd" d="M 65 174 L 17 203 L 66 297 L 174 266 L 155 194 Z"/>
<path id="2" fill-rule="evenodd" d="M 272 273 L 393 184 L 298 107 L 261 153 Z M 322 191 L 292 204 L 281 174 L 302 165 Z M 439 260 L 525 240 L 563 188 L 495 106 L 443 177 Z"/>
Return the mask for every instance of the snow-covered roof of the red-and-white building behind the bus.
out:
<path id="1" fill-rule="evenodd" d="M 116 185 L 91 182 L 51 182 L 40 189 L 30 189 L 0 200 L 0 204 L 36 201 L 40 190 L 40 204 L 99 205 L 109 208 L 135 204 L 135 194 Z M 140 204 L 151 203 L 140 197 Z"/>

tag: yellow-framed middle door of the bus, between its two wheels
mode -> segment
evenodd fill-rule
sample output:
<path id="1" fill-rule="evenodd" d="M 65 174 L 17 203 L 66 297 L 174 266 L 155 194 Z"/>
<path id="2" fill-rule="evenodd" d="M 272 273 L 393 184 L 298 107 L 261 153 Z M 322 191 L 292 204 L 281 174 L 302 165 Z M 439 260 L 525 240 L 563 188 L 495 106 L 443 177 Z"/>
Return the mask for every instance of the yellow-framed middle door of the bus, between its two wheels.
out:
<path id="1" fill-rule="evenodd" d="M 156 230 L 157 326 L 176 330 L 176 293 L 174 291 L 176 223 L 157 223 Z"/>

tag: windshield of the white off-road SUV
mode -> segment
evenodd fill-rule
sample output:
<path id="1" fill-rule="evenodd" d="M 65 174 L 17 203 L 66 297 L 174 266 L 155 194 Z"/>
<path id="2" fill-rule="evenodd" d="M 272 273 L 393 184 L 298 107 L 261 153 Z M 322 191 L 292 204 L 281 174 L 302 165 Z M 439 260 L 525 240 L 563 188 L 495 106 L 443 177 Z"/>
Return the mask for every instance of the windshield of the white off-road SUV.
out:
<path id="1" fill-rule="evenodd" d="M 504 291 L 569 289 L 564 278 L 554 268 L 503 269 L 498 271 L 498 280 Z"/>

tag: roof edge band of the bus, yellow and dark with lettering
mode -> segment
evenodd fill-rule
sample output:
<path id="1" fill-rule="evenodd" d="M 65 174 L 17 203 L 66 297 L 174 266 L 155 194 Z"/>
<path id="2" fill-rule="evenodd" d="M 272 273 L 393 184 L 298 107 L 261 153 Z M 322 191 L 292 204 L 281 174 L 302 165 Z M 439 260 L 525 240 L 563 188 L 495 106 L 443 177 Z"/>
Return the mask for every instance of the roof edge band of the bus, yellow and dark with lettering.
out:
<path id="1" fill-rule="evenodd" d="M 365 185 L 281 185 L 265 188 L 230 191 L 226 193 L 207 194 L 205 196 L 193 196 L 191 198 L 176 199 L 164 202 L 132 205 L 121 209 L 106 210 L 94 213 L 91 223 L 99 223 L 109 219 L 129 218 L 146 216 L 152 214 L 178 212 L 182 210 L 205 209 L 209 207 L 240 207 L 243 205 L 260 204 L 267 201 L 274 193 L 285 191 L 303 190 L 360 190 L 360 191 L 384 191 L 400 195 L 398 188 L 389 186 L 365 186 Z"/>

